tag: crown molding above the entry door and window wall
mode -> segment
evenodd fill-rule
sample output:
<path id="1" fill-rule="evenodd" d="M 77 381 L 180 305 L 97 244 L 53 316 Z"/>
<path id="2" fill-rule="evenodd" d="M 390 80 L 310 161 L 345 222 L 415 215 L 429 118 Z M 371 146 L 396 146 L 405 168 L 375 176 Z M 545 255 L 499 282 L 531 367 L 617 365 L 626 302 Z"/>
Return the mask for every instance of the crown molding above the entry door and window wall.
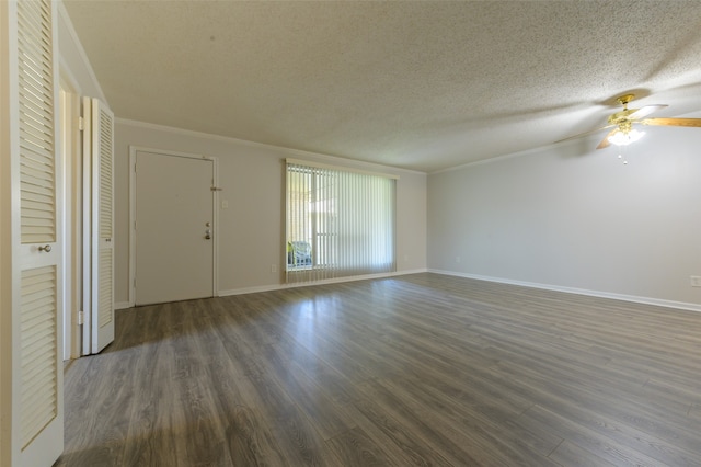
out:
<path id="1" fill-rule="evenodd" d="M 322 155 L 322 153 L 319 153 L 319 152 L 303 151 L 301 149 L 291 149 L 291 148 L 286 148 L 284 146 L 274 146 L 274 145 L 268 145 L 268 144 L 265 144 L 265 143 L 250 141 L 248 139 L 238 139 L 238 138 L 232 138 L 230 136 L 221 136 L 221 135 L 215 135 L 215 134 L 211 134 L 211 133 L 195 132 L 195 130 L 192 130 L 192 129 L 175 128 L 175 127 L 172 127 L 172 126 L 165 126 L 165 125 L 158 125 L 158 124 L 153 124 L 153 123 L 139 122 L 139 121 L 129 119 L 129 118 L 115 118 L 115 123 L 117 123 L 119 125 L 134 126 L 134 127 L 137 127 L 137 128 L 166 132 L 166 133 L 172 133 L 172 134 L 181 135 L 181 136 L 189 136 L 189 137 L 194 137 L 194 138 L 205 138 L 205 139 L 210 139 L 210 140 L 216 140 L 216 141 L 225 141 L 225 143 L 235 143 L 235 144 L 245 145 L 245 146 L 254 147 L 254 148 L 261 148 L 261 149 L 268 149 L 268 150 L 272 149 L 272 150 L 280 151 L 280 152 L 284 152 L 284 153 L 288 153 L 290 156 L 310 157 L 310 158 L 325 160 L 325 161 L 330 161 L 330 162 L 336 162 L 336 163 L 342 164 L 342 167 L 344 167 L 344 168 L 347 168 L 347 167 L 368 168 L 368 169 L 372 168 L 372 169 L 377 169 L 377 170 L 380 170 L 380 171 L 382 171 L 382 170 L 391 170 L 392 172 L 399 172 L 399 173 L 426 175 L 426 172 L 422 172 L 420 170 L 410 170 L 410 169 L 403 169 L 403 168 L 393 167 L 393 166 L 382 166 L 382 164 L 379 164 L 379 163 L 366 162 L 366 161 L 361 161 L 361 160 L 357 160 L 357 159 L 347 159 L 347 158 L 342 158 L 342 157 L 337 157 L 337 156 Z"/>

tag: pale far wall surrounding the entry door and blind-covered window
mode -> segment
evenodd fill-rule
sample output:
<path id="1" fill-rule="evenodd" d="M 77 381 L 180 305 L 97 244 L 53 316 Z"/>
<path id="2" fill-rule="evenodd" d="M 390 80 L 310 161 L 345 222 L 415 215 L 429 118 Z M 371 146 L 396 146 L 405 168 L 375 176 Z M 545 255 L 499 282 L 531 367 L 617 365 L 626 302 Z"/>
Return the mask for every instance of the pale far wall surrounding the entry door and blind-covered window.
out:
<path id="1" fill-rule="evenodd" d="M 174 150 L 219 160 L 219 291 L 222 294 L 275 288 L 284 250 L 285 158 L 323 160 L 399 174 L 397 185 L 398 271 L 426 269 L 426 174 L 344 159 L 300 153 L 230 138 L 117 119 L 115 127 L 115 301 L 128 304 L 129 147 Z"/>

